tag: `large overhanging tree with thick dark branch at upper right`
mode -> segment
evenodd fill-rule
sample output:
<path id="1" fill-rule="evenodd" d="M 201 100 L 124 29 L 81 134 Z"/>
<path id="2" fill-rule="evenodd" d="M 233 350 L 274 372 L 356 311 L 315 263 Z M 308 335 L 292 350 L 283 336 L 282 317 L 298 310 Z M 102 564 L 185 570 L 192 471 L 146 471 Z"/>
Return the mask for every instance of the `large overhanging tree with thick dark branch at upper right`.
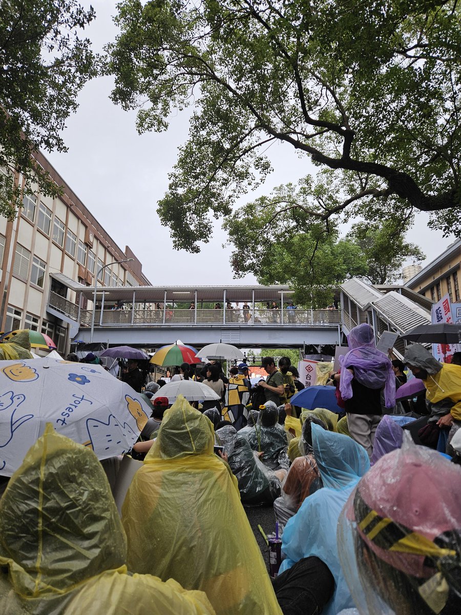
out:
<path id="1" fill-rule="evenodd" d="M 302 202 L 291 192 L 282 209 L 330 230 L 339 216 L 375 223 L 419 210 L 459 231 L 457 0 L 124 0 L 118 9 L 113 100 L 140 108 L 140 132 L 165 130 L 171 111 L 192 106 L 158 208 L 176 248 L 199 251 L 213 218 L 266 178 L 264 152 L 277 141 L 331 169 L 337 186 L 323 202 L 312 186 Z"/>

